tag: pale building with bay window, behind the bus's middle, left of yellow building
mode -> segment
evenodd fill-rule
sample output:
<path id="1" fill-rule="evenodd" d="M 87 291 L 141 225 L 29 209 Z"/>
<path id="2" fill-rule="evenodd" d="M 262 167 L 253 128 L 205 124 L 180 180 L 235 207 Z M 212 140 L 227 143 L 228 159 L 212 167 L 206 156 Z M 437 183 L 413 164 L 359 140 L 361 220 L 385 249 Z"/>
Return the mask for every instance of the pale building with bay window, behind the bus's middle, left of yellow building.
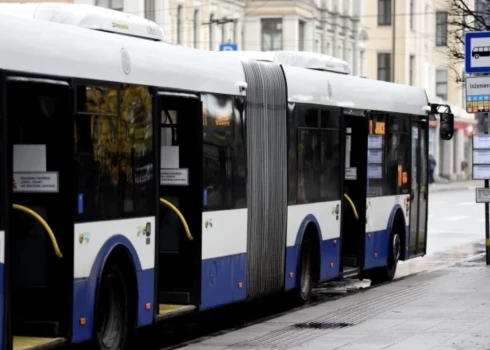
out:
<path id="1" fill-rule="evenodd" d="M 323 53 L 362 74 L 361 9 L 361 0 L 250 0 L 241 49 Z"/>

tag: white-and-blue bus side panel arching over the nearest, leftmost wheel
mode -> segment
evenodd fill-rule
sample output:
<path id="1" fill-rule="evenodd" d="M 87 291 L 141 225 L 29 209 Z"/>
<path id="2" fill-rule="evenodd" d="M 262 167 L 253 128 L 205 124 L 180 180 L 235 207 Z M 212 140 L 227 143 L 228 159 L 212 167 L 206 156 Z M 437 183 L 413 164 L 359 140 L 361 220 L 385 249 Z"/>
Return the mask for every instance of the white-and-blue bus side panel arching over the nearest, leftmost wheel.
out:
<path id="1" fill-rule="evenodd" d="M 92 338 L 97 281 L 110 252 L 119 245 L 129 251 L 136 270 L 137 325 L 151 324 L 154 313 L 155 218 L 76 224 L 74 233 L 72 341 L 79 343 Z M 152 305 L 149 310 L 145 307 L 147 303 Z"/>

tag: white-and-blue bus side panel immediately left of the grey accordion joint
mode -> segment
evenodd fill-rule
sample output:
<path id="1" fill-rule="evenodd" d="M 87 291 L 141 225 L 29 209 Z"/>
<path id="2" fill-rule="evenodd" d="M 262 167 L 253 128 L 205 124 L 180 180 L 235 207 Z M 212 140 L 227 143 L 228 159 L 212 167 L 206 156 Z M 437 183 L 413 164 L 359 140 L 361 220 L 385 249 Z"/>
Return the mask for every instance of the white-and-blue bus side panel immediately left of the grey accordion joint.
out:
<path id="1" fill-rule="evenodd" d="M 201 310 L 247 298 L 247 209 L 203 213 Z"/>

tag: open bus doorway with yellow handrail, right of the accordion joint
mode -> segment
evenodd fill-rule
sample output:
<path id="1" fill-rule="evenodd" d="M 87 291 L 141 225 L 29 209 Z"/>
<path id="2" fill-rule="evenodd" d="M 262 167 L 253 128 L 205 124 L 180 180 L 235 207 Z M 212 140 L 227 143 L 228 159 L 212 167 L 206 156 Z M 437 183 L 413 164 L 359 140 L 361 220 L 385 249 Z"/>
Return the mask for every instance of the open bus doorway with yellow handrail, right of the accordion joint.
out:
<path id="1" fill-rule="evenodd" d="M 343 277 L 350 277 L 364 266 L 368 120 L 364 111 L 344 110 L 343 122 L 342 263 Z"/>

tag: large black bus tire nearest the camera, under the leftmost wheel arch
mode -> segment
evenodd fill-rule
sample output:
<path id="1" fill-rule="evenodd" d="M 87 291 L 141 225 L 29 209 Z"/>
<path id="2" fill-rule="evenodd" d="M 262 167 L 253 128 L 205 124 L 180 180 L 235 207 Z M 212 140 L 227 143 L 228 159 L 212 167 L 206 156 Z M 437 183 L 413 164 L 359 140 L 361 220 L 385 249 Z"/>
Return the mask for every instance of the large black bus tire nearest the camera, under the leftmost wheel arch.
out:
<path id="1" fill-rule="evenodd" d="M 130 327 L 128 285 L 121 269 L 110 264 L 100 280 L 95 309 L 97 350 L 124 350 Z"/>

